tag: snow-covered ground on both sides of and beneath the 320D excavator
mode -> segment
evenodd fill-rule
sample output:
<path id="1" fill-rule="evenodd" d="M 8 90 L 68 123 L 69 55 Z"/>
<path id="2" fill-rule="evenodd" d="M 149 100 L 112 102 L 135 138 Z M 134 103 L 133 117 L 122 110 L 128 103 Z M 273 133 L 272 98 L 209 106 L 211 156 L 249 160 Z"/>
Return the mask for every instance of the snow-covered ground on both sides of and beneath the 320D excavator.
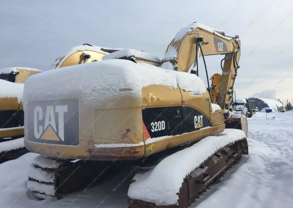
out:
<path id="1" fill-rule="evenodd" d="M 293 112 L 257 113 L 248 119 L 249 156 L 243 156 L 191 208 L 292 208 Z M 124 208 L 133 175 L 114 178 L 64 196 L 38 201 L 27 190 L 27 169 L 38 154 L 0 164 L 0 208 Z M 227 177 L 230 176 L 230 177 Z M 125 180 L 126 179 L 126 180 Z"/>

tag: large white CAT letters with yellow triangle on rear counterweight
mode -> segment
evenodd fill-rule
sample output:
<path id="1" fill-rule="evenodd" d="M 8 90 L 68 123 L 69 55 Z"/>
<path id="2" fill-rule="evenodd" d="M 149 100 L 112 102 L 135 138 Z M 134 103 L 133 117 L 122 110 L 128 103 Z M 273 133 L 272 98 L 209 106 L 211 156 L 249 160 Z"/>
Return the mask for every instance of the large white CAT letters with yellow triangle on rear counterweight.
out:
<path id="1" fill-rule="evenodd" d="M 67 111 L 67 105 L 49 105 L 46 107 L 46 112 L 43 113 L 42 107 L 37 105 L 34 110 L 35 137 L 42 140 L 64 141 L 64 113 Z M 58 116 L 58 135 L 55 114 Z M 40 124 L 42 120 L 44 120 L 44 125 Z"/>

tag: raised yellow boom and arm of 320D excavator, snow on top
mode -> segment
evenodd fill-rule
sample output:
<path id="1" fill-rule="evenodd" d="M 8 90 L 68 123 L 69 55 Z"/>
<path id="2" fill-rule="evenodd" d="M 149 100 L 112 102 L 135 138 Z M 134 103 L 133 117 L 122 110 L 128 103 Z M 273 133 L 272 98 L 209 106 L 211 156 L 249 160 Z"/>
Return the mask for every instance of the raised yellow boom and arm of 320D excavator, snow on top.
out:
<path id="1" fill-rule="evenodd" d="M 221 84 L 217 85 L 218 90 L 213 90 L 211 97 L 216 99 L 212 103 L 217 103 L 222 109 L 229 109 L 239 68 L 240 40 L 238 36 L 226 35 L 223 31 L 194 22 L 182 28 L 169 43 L 162 60 L 162 68 L 199 75 L 198 59 L 200 57 L 204 59 L 204 56 L 209 55 L 225 55 Z M 207 69 L 206 73 L 208 79 Z"/>

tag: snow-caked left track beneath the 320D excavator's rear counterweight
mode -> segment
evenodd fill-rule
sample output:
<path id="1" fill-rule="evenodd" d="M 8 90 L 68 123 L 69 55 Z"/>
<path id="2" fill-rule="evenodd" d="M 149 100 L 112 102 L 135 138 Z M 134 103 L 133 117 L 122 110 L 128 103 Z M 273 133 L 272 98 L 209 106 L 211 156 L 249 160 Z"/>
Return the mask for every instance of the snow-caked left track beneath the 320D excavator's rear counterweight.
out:
<path id="1" fill-rule="evenodd" d="M 63 194 L 112 177 L 123 168 L 121 165 L 112 161 L 73 161 L 39 155 L 28 170 L 27 187 L 39 199 L 61 199 Z"/>

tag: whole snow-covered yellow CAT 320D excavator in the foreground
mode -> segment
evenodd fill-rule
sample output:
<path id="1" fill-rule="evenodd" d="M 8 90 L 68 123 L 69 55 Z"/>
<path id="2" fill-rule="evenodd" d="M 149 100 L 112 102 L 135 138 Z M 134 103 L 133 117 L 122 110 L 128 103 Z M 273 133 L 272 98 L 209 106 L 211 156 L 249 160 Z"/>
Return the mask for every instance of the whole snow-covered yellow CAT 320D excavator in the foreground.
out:
<path id="1" fill-rule="evenodd" d="M 205 63 L 208 55 L 225 55 L 212 102 L 198 77 L 199 58 Z M 248 154 L 247 120 L 231 106 L 239 58 L 238 36 L 194 22 L 163 60 L 120 49 L 28 78 L 24 143 L 41 154 L 28 170 L 28 189 L 59 199 L 132 166 L 129 207 L 189 206 Z"/>

